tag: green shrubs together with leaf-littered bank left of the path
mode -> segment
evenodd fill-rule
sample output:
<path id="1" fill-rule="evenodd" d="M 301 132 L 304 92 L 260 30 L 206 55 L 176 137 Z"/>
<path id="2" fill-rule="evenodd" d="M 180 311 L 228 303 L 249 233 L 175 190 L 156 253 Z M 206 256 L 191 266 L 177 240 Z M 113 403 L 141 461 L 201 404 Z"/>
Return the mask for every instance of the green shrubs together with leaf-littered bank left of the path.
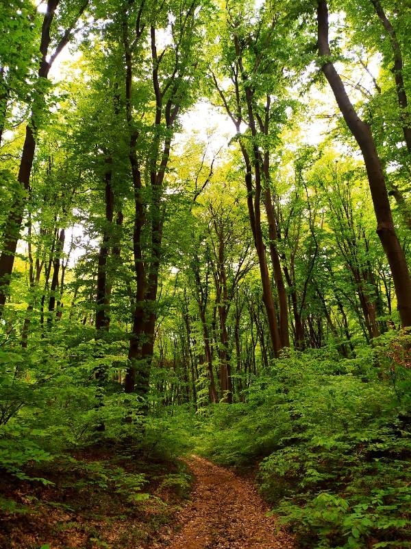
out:
<path id="1" fill-rule="evenodd" d="M 66 343 L 0 350 L 0 547 L 150 546 L 188 497 L 186 429 L 110 382 L 115 341 Z"/>

